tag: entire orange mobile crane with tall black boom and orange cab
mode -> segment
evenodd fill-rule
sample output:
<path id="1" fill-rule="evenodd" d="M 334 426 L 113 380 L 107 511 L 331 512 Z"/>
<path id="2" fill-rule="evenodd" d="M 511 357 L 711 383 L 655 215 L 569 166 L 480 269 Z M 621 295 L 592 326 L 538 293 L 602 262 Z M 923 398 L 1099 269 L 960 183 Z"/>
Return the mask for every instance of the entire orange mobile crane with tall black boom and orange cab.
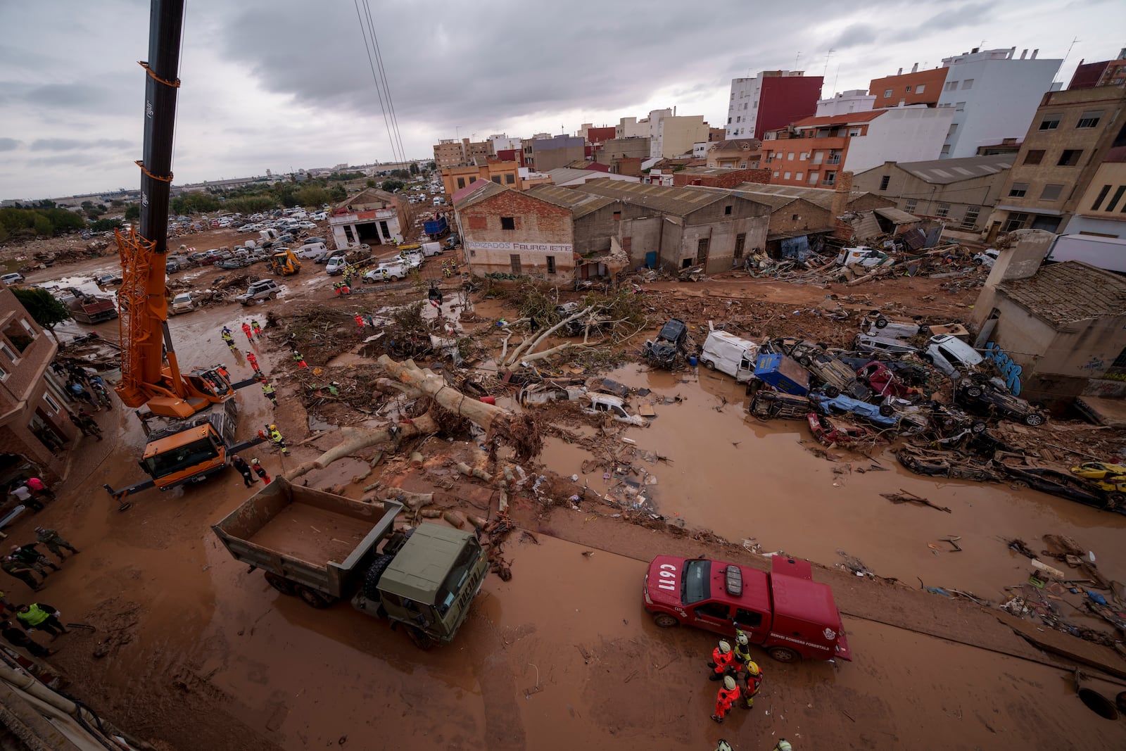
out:
<path id="1" fill-rule="evenodd" d="M 141 221 L 138 229 L 116 233 L 122 258 L 122 381 L 116 391 L 128 406 L 148 408 L 138 411 L 148 435 L 140 464 L 150 480 L 122 490 L 105 485 L 118 499 L 146 488 L 169 490 L 206 480 L 242 448 L 234 446 L 238 412 L 225 368 L 181 372 L 168 330 L 168 208 L 182 25 L 184 0 L 152 0 L 149 62 L 141 63 L 148 73 L 144 152 L 137 162 Z M 239 385 L 247 383 L 252 381 Z M 164 424 L 151 430 L 154 417 L 164 418 Z"/>

